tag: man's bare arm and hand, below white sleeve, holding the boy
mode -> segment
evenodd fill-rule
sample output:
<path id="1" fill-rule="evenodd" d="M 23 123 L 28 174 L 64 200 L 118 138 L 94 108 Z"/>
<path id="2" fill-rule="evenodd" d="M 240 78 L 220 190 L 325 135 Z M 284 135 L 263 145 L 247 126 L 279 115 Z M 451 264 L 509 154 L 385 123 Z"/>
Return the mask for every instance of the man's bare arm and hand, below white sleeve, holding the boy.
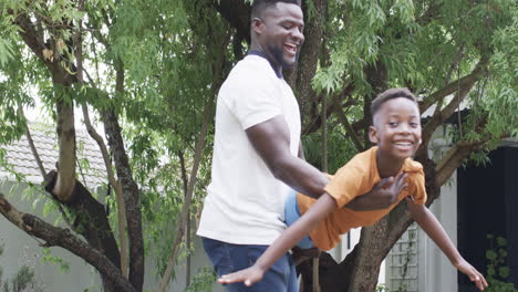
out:
<path id="1" fill-rule="evenodd" d="M 290 134 L 283 116 L 274 116 L 246 132 L 253 148 L 277 179 L 312 198 L 324 194 L 329 180 L 319 169 L 301 159 L 302 146 L 299 146 L 299 157 L 291 155 Z M 400 175 L 383 179 L 373 190 L 356 197 L 345 207 L 359 211 L 386 208 L 397 199 L 404 188 L 405 177 L 406 175 Z M 393 184 L 385 188 L 391 182 Z"/>

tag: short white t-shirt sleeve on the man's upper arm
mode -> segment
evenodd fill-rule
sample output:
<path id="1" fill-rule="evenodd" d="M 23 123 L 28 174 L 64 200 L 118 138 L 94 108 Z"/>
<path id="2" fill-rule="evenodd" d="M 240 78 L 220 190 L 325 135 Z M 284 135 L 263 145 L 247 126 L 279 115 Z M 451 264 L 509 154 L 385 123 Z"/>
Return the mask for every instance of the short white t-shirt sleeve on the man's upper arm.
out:
<path id="1" fill-rule="evenodd" d="M 238 79 L 220 95 L 242 129 L 281 114 L 281 91 L 267 77 Z"/>

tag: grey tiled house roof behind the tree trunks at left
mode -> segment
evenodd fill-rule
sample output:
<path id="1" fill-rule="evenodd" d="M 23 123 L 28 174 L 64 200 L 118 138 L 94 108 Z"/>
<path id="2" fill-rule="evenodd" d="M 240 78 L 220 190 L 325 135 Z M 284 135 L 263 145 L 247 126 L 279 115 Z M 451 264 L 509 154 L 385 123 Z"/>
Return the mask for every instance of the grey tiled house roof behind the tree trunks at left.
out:
<path id="1" fill-rule="evenodd" d="M 32 123 L 30 133 L 38 155 L 46 173 L 55 169 L 59 160 L 58 138 L 55 128 L 49 125 Z M 87 188 L 97 187 L 107 181 L 104 160 L 99 145 L 90 137 L 85 129 L 76 128 L 76 177 Z M 7 150 L 7 163 L 11 169 L 24 177 L 27 181 L 41 184 L 43 177 L 29 146 L 27 136 L 11 145 L 0 145 Z M 13 179 L 12 173 L 0 167 L 0 178 Z"/>

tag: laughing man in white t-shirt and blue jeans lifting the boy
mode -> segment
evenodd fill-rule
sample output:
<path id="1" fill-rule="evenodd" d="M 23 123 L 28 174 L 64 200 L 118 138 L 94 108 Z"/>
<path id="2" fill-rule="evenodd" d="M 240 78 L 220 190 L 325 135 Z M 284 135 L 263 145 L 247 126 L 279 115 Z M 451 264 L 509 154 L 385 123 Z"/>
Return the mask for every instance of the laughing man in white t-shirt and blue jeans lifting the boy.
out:
<path id="1" fill-rule="evenodd" d="M 300 112 L 282 69 L 293 66 L 304 41 L 300 0 L 256 0 L 251 44 L 222 84 L 216 109 L 211 182 L 197 234 L 219 275 L 250 267 L 281 234 L 289 187 L 318 198 L 328 179 L 305 163 Z M 373 195 L 350 202 L 356 210 L 387 207 L 403 188 L 398 176 Z M 289 254 L 253 286 L 228 291 L 298 291 Z"/>

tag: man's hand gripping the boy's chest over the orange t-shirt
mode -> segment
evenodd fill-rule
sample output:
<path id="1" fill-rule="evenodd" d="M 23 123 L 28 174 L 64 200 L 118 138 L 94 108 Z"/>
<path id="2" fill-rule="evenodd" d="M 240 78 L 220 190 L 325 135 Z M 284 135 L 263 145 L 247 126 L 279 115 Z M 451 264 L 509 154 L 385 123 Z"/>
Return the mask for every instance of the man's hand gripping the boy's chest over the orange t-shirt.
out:
<path id="1" fill-rule="evenodd" d="M 406 187 L 407 175 L 402 173 L 396 177 L 387 177 L 374 185 L 371 191 L 356 197 L 345 205 L 355 211 L 370 211 L 388 208 L 397 200 L 397 196 Z"/>

